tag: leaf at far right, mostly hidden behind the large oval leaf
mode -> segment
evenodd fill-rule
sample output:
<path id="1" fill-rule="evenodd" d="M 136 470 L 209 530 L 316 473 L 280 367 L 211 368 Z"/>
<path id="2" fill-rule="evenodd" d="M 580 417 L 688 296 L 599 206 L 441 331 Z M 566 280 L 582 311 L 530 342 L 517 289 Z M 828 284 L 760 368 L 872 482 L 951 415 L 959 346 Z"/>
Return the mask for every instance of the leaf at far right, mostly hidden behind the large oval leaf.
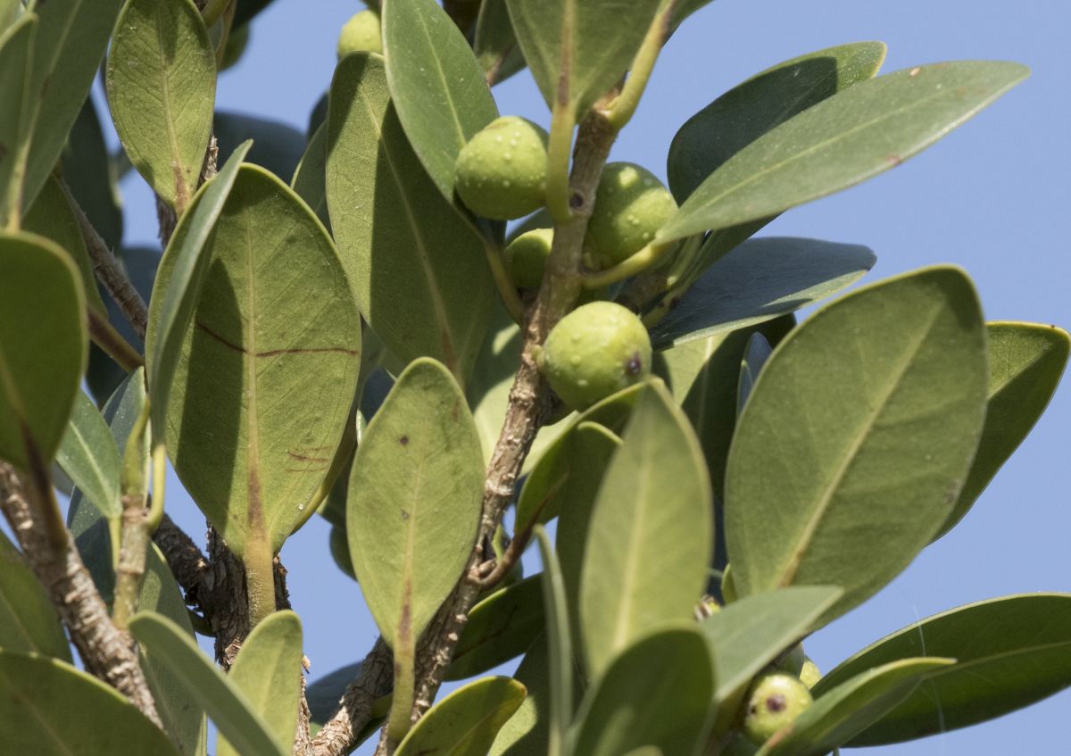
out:
<path id="1" fill-rule="evenodd" d="M 993 322 L 986 326 L 990 390 L 985 426 L 967 482 L 940 532 L 963 519 L 1000 467 L 1023 442 L 1056 393 L 1071 337 L 1055 326 Z"/>

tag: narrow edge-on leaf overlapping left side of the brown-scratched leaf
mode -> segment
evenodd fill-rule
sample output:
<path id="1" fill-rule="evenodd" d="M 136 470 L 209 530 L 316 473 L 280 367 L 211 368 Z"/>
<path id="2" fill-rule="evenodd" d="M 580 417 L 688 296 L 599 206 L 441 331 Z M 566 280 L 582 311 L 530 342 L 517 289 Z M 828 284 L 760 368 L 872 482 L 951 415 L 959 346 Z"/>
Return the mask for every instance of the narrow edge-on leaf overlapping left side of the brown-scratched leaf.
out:
<path id="1" fill-rule="evenodd" d="M 153 447 L 163 444 L 166 438 L 167 406 L 175 373 L 212 262 L 209 240 L 248 147 L 236 150 L 220 172 L 201 186 L 167 244 L 165 257 L 168 258 L 169 274 L 160 276 L 157 268 L 153 297 L 149 301 L 145 349 L 149 396 L 152 398 Z"/>

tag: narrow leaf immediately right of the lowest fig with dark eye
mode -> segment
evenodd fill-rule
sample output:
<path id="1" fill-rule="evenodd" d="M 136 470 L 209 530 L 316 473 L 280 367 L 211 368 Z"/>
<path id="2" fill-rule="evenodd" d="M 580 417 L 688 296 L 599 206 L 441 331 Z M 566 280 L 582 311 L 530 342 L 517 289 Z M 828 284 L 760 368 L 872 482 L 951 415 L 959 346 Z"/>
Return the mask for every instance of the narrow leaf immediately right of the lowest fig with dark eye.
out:
<path id="1" fill-rule="evenodd" d="M 953 663 L 919 656 L 868 669 L 819 696 L 755 756 L 825 756 L 910 695 L 927 674 Z"/>

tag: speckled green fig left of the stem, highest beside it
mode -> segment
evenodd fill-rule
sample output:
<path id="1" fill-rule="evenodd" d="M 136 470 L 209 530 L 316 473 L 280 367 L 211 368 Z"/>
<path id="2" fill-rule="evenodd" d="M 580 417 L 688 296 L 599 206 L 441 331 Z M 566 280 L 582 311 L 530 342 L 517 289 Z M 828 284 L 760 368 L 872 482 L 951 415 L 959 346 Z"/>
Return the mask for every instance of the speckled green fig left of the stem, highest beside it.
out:
<path id="1" fill-rule="evenodd" d="M 518 116 L 496 118 L 462 148 L 455 166 L 457 194 L 477 215 L 512 221 L 546 202 L 543 128 Z"/>

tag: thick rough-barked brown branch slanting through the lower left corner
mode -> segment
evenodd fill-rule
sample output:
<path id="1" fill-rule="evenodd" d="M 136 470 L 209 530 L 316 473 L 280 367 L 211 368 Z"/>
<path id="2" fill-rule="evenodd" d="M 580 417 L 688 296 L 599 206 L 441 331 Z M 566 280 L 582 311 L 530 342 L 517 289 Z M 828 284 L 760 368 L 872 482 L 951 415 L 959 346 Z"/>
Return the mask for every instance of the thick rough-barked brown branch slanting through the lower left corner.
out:
<path id="1" fill-rule="evenodd" d="M 37 579 L 56 605 L 86 669 L 122 693 L 157 727 L 156 706 L 138 663 L 136 645 L 108 617 L 108 608 L 82 564 L 71 533 L 58 548 L 42 521 L 42 508 L 11 465 L 0 463 L 0 508 Z"/>

